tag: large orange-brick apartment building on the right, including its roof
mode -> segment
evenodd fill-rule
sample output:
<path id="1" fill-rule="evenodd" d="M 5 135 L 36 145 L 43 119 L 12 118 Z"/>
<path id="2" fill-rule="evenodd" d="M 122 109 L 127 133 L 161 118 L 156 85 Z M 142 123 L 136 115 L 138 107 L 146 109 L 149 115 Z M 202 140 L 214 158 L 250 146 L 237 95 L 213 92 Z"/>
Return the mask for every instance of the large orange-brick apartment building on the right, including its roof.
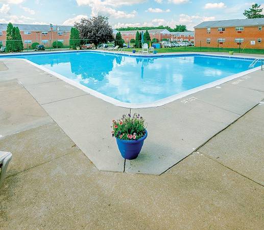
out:
<path id="1" fill-rule="evenodd" d="M 264 49 L 264 18 L 204 21 L 195 27 L 195 46 Z"/>

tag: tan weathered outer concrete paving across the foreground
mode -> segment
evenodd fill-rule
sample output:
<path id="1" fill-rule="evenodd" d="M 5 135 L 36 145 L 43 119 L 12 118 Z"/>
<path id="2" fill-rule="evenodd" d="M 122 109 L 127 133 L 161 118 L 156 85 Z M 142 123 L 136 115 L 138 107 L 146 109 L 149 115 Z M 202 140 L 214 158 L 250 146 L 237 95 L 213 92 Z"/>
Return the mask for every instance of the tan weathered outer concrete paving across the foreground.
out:
<path id="1" fill-rule="evenodd" d="M 16 63 L 18 81 L 50 82 L 24 64 Z M 7 73 L 0 72 L 0 149 L 13 159 L 0 190 L 0 229 L 264 228 L 264 105 L 160 176 L 102 172 Z"/>

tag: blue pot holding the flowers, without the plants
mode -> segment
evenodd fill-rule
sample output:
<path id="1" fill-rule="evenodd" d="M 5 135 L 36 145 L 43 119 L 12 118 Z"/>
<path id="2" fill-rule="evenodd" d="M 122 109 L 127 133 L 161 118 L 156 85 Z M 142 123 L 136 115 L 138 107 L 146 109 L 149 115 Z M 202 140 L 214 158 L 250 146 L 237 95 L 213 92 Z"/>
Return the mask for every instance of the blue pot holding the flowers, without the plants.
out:
<path id="1" fill-rule="evenodd" d="M 137 156 L 140 153 L 141 148 L 142 148 L 142 146 L 144 144 L 144 140 L 148 136 L 147 130 L 145 130 L 145 131 L 146 131 L 145 135 L 142 136 L 138 140 L 127 141 L 127 140 L 121 140 L 119 138 L 116 138 L 116 143 L 117 143 L 118 149 L 121 152 L 121 155 L 125 159 L 135 159 L 135 158 L 137 158 Z"/>

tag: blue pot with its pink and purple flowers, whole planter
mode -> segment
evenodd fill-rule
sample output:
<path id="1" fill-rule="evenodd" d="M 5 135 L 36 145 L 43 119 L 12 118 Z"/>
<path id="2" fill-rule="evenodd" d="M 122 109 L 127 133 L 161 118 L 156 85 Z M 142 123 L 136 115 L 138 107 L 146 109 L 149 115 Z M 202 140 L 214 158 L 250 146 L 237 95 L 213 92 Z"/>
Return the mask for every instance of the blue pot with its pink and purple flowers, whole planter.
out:
<path id="1" fill-rule="evenodd" d="M 121 155 L 125 159 L 137 158 L 144 140 L 148 136 L 145 120 L 135 113 L 123 115 L 117 121 L 112 121 L 112 136 L 115 137 Z"/>

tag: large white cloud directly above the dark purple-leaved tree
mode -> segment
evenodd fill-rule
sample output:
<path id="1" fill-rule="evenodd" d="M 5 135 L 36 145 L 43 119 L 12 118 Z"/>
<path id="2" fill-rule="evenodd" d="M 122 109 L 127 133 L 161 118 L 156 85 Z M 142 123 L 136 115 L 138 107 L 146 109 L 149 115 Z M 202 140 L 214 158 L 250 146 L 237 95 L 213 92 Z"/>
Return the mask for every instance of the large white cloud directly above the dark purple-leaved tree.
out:
<path id="1" fill-rule="evenodd" d="M 91 16 L 98 16 L 102 14 L 113 18 L 133 18 L 136 15 L 136 11 L 127 13 L 124 11 L 116 10 L 112 7 L 118 7 L 122 5 L 131 5 L 145 2 L 145 0 L 76 0 L 78 6 L 89 6 L 91 8 Z"/>

